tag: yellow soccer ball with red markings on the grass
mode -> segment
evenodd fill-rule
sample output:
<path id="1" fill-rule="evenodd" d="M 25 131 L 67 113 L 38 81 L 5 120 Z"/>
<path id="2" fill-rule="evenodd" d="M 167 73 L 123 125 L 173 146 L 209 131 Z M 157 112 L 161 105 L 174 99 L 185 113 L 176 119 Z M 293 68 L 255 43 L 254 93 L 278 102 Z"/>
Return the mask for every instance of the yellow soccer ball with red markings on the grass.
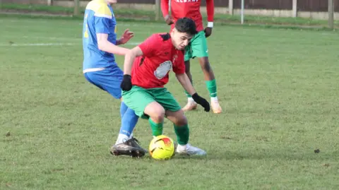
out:
<path id="1" fill-rule="evenodd" d="M 165 135 L 156 136 L 150 141 L 148 151 L 155 160 L 169 160 L 174 156 L 175 147 L 172 138 Z"/>

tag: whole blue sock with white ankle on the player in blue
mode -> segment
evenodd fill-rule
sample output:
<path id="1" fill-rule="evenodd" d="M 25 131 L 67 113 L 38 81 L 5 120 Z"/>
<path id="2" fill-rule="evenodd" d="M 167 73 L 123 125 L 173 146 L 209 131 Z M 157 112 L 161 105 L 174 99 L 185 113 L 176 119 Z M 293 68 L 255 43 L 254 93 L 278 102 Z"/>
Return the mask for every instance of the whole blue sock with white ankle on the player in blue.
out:
<path id="1" fill-rule="evenodd" d="M 138 122 L 139 117 L 133 111 L 133 109 L 127 109 L 124 113 L 124 116 L 121 118 L 121 127 L 119 131 L 119 136 L 117 139 L 117 143 L 123 143 L 124 141 L 129 140 L 131 138 L 133 129 Z"/>

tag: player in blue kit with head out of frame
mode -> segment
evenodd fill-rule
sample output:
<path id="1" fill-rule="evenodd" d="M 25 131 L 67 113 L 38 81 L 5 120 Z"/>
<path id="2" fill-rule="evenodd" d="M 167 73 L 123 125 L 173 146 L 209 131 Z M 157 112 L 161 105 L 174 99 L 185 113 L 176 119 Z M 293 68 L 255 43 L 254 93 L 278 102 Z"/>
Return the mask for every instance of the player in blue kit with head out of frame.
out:
<path id="1" fill-rule="evenodd" d="M 98 88 L 107 91 L 116 99 L 121 99 L 120 83 L 123 72 L 115 62 L 114 54 L 124 55 L 129 49 L 118 47 L 125 44 L 133 32 L 125 30 L 122 37 L 117 40 L 116 20 L 113 9 L 109 4 L 116 0 L 93 0 L 85 9 L 83 20 L 83 73 L 85 78 Z M 132 131 L 138 121 L 138 116 L 121 101 L 121 129 L 117 142 L 111 148 L 115 155 L 143 156 L 143 150 Z"/>

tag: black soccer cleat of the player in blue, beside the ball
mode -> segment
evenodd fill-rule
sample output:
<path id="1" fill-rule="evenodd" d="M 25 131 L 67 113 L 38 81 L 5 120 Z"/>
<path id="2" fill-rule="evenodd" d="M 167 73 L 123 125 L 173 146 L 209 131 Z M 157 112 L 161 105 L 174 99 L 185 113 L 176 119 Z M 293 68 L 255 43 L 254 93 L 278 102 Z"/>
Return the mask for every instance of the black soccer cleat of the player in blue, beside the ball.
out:
<path id="1" fill-rule="evenodd" d="M 124 143 L 118 143 L 112 146 L 110 153 L 112 155 L 129 155 L 133 158 L 140 158 L 145 155 L 147 151 L 138 145 L 136 138 L 131 138 Z"/>

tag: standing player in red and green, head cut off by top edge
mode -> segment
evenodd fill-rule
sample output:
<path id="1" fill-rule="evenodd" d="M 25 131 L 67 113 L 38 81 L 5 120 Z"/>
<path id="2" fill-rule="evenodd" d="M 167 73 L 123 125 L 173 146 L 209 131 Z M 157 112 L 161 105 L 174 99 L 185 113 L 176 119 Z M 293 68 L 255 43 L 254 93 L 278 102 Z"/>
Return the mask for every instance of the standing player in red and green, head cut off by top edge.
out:
<path id="1" fill-rule="evenodd" d="M 169 0 L 161 0 L 162 15 L 164 16 L 166 23 L 168 25 L 171 25 L 171 30 L 174 28 L 174 23 L 176 20 L 178 20 L 178 18 L 188 17 L 193 19 L 196 23 L 198 34 L 192 38 L 191 43 L 185 49 L 186 74 L 187 76 L 189 76 L 191 83 L 193 83 L 192 75 L 190 72 L 189 59 L 198 57 L 201 69 L 203 70 L 203 74 L 205 76 L 206 86 L 208 92 L 210 93 L 211 107 L 214 113 L 219 114 L 222 112 L 222 108 L 220 107 L 218 102 L 217 83 L 215 81 L 212 68 L 210 67 L 210 62 L 208 61 L 208 47 L 206 41 L 206 37 L 212 34 L 214 19 L 214 1 L 206 0 L 208 25 L 205 29 L 203 29 L 203 17 L 201 16 L 200 6 L 201 0 L 172 0 L 171 15 L 169 15 Z M 191 95 L 187 93 L 187 91 L 186 95 L 188 97 L 188 102 L 183 110 L 188 111 L 191 109 L 196 109 L 197 104 L 196 102 L 194 102 Z"/>

